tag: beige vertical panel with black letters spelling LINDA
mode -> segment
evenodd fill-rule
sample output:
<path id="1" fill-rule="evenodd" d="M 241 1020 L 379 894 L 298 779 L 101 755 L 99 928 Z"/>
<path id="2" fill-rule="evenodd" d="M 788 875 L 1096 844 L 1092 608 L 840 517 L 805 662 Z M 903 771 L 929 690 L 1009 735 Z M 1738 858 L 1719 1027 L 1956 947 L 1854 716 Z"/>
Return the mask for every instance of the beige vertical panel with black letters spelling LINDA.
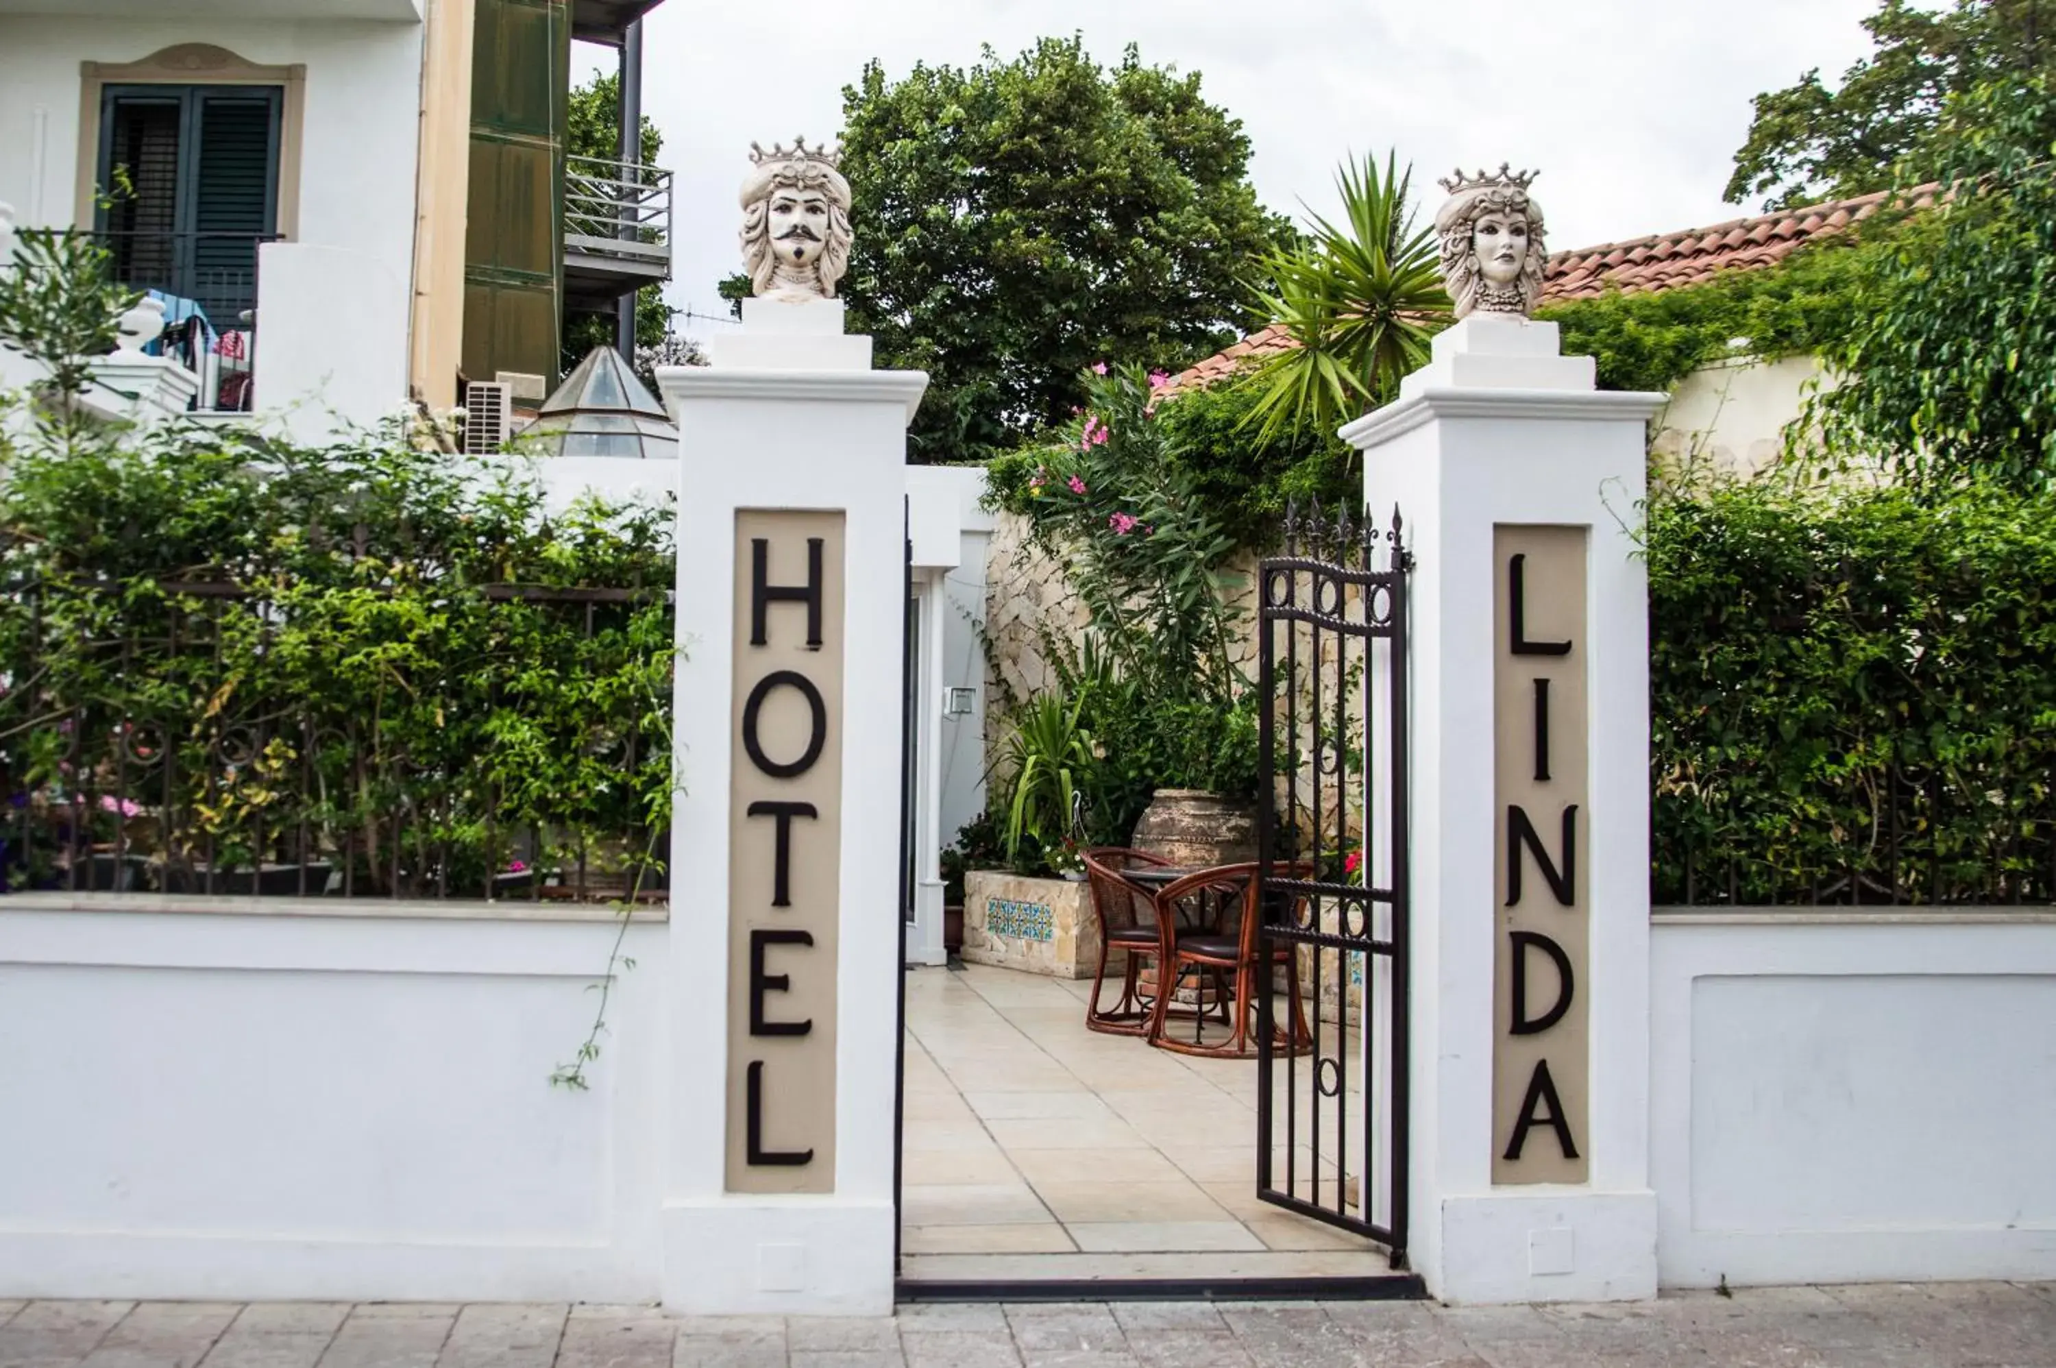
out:
<path id="1" fill-rule="evenodd" d="M 1493 1181 L 1589 1173 L 1589 839 L 1581 527 L 1497 527 Z"/>

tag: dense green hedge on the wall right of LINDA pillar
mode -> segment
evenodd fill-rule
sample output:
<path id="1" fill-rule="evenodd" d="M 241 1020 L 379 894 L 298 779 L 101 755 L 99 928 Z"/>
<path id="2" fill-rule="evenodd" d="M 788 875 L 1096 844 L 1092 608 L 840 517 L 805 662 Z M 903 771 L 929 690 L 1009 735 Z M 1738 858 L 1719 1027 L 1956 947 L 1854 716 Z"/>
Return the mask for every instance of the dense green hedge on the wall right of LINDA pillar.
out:
<path id="1" fill-rule="evenodd" d="M 2056 901 L 2056 498 L 1752 483 L 1647 525 L 1655 901 Z"/>

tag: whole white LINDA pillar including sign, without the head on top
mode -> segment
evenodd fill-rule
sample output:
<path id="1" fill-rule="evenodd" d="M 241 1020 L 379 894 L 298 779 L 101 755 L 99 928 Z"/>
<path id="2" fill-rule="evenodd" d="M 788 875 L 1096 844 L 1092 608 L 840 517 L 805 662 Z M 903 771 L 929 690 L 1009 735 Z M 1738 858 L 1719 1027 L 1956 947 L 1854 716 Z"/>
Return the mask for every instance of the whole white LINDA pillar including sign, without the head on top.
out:
<path id="1" fill-rule="evenodd" d="M 1474 313 L 1343 436 L 1406 520 L 1410 1259 L 1454 1302 L 1655 1296 L 1645 424 Z"/>

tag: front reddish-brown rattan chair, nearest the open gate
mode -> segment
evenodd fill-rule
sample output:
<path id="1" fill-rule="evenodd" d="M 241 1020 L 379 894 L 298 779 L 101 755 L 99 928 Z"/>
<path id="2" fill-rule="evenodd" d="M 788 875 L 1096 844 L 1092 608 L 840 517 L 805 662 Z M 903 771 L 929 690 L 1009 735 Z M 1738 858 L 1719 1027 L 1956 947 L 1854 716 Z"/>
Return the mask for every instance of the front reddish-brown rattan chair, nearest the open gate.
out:
<path id="1" fill-rule="evenodd" d="M 1256 1053 L 1250 1029 L 1256 994 L 1271 992 L 1271 983 L 1260 975 L 1275 973 L 1279 965 L 1285 967 L 1291 1027 L 1289 1033 L 1279 1031 L 1277 1045 L 1291 1053 L 1312 1045 L 1314 1033 L 1306 1020 L 1306 1004 L 1299 1000 L 1299 957 L 1293 955 L 1291 944 L 1266 948 L 1258 936 L 1262 924 L 1260 868 L 1258 864 L 1223 864 L 1186 874 L 1158 891 L 1158 936 L 1168 950 L 1168 971 L 1160 975 L 1164 981 L 1149 1018 L 1151 1045 L 1180 1055 L 1248 1059 Z M 1217 1045 L 1203 1041 L 1209 1018 L 1205 1010 L 1195 1014 L 1190 1041 L 1166 1031 L 1170 1000 L 1186 975 L 1195 973 L 1201 977 L 1201 1008 L 1205 1008 L 1205 987 L 1211 981 L 1215 1002 L 1221 1008 L 1219 1020 L 1229 1024 L 1227 1039 Z"/>

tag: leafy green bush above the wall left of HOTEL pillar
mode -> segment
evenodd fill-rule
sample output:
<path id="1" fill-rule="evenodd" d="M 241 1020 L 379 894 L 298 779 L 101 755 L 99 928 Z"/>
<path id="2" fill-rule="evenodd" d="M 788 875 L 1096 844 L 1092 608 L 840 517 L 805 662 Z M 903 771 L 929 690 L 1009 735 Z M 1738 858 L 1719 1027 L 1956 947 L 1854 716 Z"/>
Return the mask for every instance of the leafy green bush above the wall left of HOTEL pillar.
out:
<path id="1" fill-rule="evenodd" d="M 35 428 L 0 455 L 12 887 L 82 854 L 395 895 L 660 864 L 662 510 L 551 518 L 533 479 L 397 436 Z"/>

